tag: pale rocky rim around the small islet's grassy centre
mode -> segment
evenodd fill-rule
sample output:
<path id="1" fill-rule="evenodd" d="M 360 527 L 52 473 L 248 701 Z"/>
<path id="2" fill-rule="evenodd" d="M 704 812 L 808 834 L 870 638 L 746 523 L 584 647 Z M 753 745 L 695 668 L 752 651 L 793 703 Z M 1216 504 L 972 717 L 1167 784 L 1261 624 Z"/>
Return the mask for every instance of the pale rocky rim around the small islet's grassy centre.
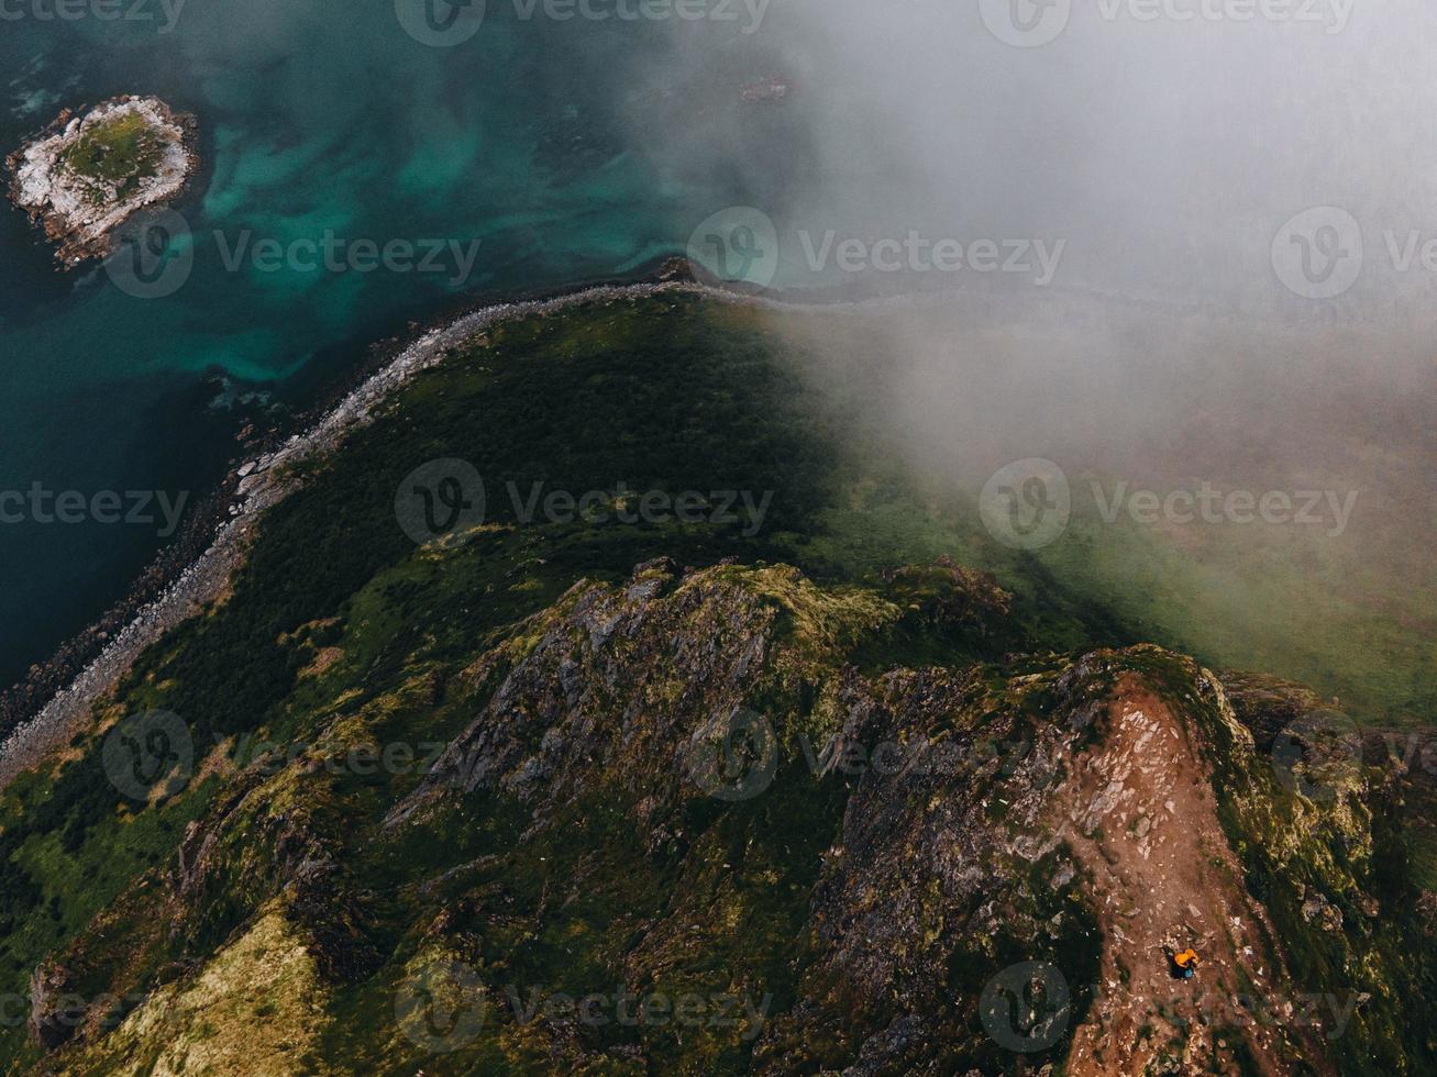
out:
<path id="1" fill-rule="evenodd" d="M 154 175 L 138 180 L 134 192 L 103 192 L 108 201 L 95 202 L 96 184 L 85 181 L 63 167 L 66 151 L 96 125 L 141 116 L 164 142 Z M 162 205 L 177 198 L 200 165 L 197 121 L 175 113 L 158 98 L 119 96 L 92 109 L 65 109 L 34 139 L 6 158 L 10 171 L 10 201 L 24 210 L 46 237 L 57 244 L 56 260 L 73 269 L 89 258 L 103 258 L 111 250 L 115 230 L 145 207 Z"/>

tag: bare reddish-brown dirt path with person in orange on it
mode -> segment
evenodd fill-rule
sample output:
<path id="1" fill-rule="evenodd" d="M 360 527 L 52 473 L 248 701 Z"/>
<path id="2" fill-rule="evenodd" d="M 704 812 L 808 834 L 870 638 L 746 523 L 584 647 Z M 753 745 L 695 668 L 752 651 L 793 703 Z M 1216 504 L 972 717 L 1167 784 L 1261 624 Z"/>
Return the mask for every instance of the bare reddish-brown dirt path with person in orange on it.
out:
<path id="1" fill-rule="evenodd" d="M 1288 1073 L 1277 1030 L 1252 1027 L 1234 1001 L 1272 999 L 1280 971 L 1187 725 L 1132 675 L 1099 721 L 1099 742 L 1078 755 L 1056 797 L 1104 931 L 1098 992 L 1066 1073 L 1242 1073 L 1242 1040 L 1262 1073 Z M 1201 968 L 1174 979 L 1164 948 L 1187 946 Z"/>

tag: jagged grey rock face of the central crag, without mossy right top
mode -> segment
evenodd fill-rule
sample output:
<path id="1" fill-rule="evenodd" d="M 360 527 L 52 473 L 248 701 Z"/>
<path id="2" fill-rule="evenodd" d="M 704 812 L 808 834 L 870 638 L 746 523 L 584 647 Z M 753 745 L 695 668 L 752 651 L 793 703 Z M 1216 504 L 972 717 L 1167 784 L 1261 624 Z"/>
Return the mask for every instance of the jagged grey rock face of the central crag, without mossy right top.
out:
<path id="1" fill-rule="evenodd" d="M 560 607 L 395 820 L 445 791 L 556 798 L 605 771 L 671 801 L 690 732 L 739 709 L 777 616 L 743 582 L 721 572 L 681 579 L 667 559 L 639 566 L 622 590 L 581 582 Z"/>

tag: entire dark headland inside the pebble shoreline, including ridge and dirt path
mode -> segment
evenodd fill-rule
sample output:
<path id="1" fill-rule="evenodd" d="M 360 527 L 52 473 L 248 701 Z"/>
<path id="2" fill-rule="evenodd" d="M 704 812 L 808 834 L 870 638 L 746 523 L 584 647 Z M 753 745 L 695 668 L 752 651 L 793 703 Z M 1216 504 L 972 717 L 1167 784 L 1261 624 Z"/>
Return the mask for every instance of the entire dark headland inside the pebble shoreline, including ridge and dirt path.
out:
<path id="1" fill-rule="evenodd" d="M 684 303 L 417 379 L 4 790 L 6 1068 L 1430 1071 L 1411 790 L 1299 686 L 844 517 L 839 424 Z M 489 513 L 415 540 L 451 458 Z"/>

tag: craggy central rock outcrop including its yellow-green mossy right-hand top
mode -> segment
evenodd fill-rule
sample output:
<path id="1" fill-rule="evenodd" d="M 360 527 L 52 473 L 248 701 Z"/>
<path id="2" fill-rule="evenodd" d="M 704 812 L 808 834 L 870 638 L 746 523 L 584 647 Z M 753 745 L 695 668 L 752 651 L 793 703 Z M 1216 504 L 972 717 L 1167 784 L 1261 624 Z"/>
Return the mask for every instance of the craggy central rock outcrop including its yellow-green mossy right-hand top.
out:
<path id="1" fill-rule="evenodd" d="M 622 589 L 581 582 L 520 630 L 522 656 L 512 643 L 470 671 L 476 684 L 503 676 L 389 823 L 476 790 L 552 803 L 599 775 L 670 806 L 703 796 L 724 778 L 701 773 L 710 738 L 730 737 L 760 686 L 822 684 L 845 645 L 900 616 L 877 595 L 831 595 L 785 566 L 681 574 L 662 559 Z M 775 721 L 762 717 L 764 737 Z M 779 729 L 786 748 L 796 732 Z"/>

